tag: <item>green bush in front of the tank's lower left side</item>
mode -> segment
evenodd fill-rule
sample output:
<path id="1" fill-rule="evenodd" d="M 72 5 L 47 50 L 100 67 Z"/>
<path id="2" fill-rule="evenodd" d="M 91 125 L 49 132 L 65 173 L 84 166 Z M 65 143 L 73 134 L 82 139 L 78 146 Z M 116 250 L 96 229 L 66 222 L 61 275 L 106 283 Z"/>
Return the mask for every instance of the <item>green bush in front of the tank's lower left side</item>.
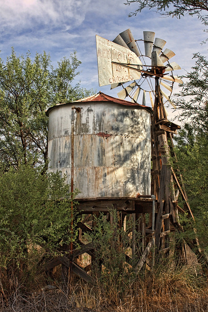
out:
<path id="1" fill-rule="evenodd" d="M 8 276 L 22 268 L 33 271 L 43 253 L 60 254 L 72 239 L 70 224 L 71 193 L 65 177 L 58 172 L 41 175 L 41 168 L 29 165 L 0 171 L 0 270 Z"/>

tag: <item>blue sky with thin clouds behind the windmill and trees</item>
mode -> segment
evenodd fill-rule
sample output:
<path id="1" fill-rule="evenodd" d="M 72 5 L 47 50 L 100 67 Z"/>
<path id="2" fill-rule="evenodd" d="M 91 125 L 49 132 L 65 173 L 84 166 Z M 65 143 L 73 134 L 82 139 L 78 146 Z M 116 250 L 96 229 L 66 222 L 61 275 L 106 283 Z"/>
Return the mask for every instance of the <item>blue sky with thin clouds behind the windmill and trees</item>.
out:
<path id="1" fill-rule="evenodd" d="M 11 47 L 17 55 L 25 55 L 29 50 L 32 59 L 36 52 L 46 51 L 56 66 L 58 60 L 70 58 L 76 51 L 82 64 L 75 83 L 81 81 L 83 88 L 117 97 L 121 89 L 110 90 L 110 85 L 98 84 L 95 35 L 113 40 L 130 28 L 134 39 L 143 39 L 143 31 L 153 31 L 155 37 L 167 41 L 165 47 L 174 51 L 171 60 L 181 66 L 174 72 L 179 76 L 191 70 L 193 53 L 207 55 L 208 43 L 201 44 L 207 34 L 197 17 L 164 18 L 148 9 L 128 17 L 137 4 L 125 5 L 124 1 L 0 0 L 0 58 L 6 60 Z M 178 90 L 175 83 L 174 91 Z M 170 109 L 169 112 L 171 119 L 173 113 Z"/>

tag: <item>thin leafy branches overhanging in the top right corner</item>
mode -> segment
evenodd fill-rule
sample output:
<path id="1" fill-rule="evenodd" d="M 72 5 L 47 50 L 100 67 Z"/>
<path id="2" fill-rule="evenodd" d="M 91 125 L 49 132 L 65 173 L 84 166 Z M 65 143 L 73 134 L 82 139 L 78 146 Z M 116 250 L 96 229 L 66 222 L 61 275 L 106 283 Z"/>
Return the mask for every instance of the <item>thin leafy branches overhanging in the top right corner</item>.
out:
<path id="1" fill-rule="evenodd" d="M 204 11 L 208 11 L 208 0 L 127 0 L 125 4 L 130 5 L 132 2 L 137 2 L 139 7 L 130 16 L 136 15 L 144 8 L 155 8 L 161 15 L 175 16 L 179 19 L 185 14 L 197 15 L 203 24 L 208 25 L 208 15 L 204 15 Z"/>

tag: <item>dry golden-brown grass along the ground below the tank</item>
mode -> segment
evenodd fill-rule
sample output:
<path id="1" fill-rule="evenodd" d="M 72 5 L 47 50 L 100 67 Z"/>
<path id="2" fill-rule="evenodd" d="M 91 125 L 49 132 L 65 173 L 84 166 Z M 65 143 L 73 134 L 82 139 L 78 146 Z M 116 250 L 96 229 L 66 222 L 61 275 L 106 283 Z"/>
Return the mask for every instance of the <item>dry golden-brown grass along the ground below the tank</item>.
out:
<path id="1" fill-rule="evenodd" d="M 67 291 L 58 280 L 50 290 L 44 275 L 30 290 L 15 278 L 10 283 L 10 291 L 0 283 L 0 312 L 208 312 L 207 278 L 187 266 L 143 271 L 132 287 L 119 288 L 112 277 L 95 285 L 75 280 Z"/>

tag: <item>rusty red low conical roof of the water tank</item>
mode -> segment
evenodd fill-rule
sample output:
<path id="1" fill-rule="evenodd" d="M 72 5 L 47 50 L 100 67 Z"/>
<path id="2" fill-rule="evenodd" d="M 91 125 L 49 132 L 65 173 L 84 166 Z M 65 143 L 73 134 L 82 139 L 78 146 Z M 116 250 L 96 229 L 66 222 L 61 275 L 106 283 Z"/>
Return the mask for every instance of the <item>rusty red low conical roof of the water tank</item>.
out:
<path id="1" fill-rule="evenodd" d="M 152 109 L 149 106 L 141 105 L 138 103 L 132 103 L 130 101 L 126 101 L 126 100 L 123 100 L 120 98 L 113 98 L 111 96 L 108 96 L 107 94 L 104 94 L 102 92 L 98 92 L 97 94 L 94 94 L 94 95 L 87 97 L 87 98 L 81 98 L 81 99 L 78 99 L 78 100 L 73 101 L 73 102 L 60 103 L 60 104 L 56 104 L 55 106 L 49 107 L 49 109 L 46 110 L 46 115 L 48 116 L 49 111 L 56 106 L 66 105 L 66 104 L 70 104 L 70 103 L 80 103 L 80 102 L 81 103 L 86 103 L 86 102 L 113 102 L 113 103 L 117 103 L 117 104 L 121 104 L 121 105 L 125 105 L 125 106 L 134 106 L 135 108 L 144 108 L 144 109 L 148 110 L 149 112 L 152 112 Z"/>

